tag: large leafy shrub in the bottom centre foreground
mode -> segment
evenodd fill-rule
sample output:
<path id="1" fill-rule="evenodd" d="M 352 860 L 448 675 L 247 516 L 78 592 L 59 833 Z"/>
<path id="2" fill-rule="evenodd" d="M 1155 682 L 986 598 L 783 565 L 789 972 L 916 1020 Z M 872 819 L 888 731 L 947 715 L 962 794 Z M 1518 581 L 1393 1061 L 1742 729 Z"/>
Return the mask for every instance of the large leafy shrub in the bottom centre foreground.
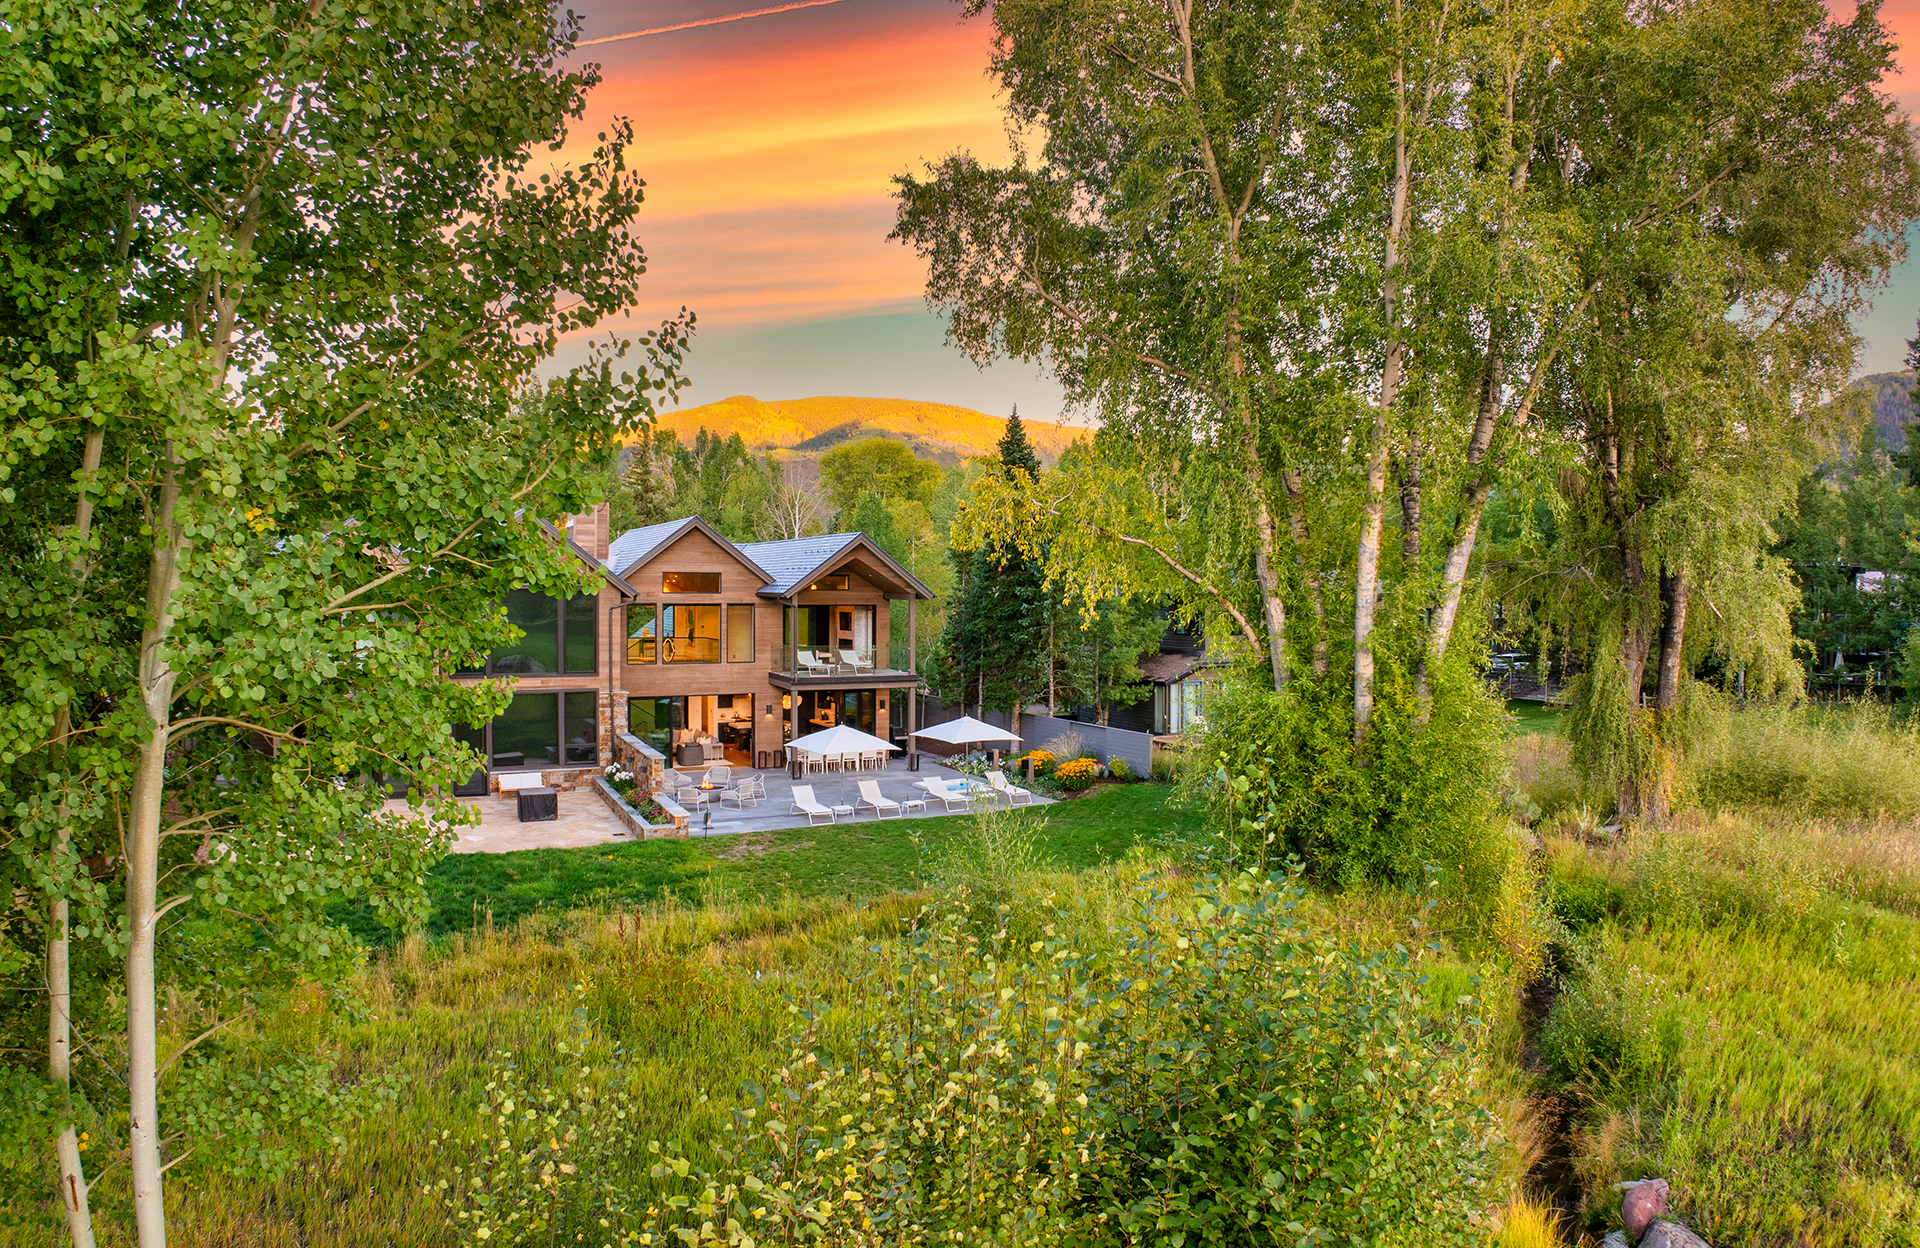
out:
<path id="1" fill-rule="evenodd" d="M 1294 918 L 1252 876 L 1125 900 L 1087 948 L 931 906 L 835 1043 L 801 1012 L 732 1164 L 689 1173 L 651 1242 L 1482 1244 L 1492 1117 L 1476 1018 L 1434 1016 L 1405 952 Z M 678 1181 L 678 1183 L 676 1183 Z M 710 1236 L 710 1238 L 708 1238 Z M 649 1242 L 649 1240 L 643 1240 Z"/>

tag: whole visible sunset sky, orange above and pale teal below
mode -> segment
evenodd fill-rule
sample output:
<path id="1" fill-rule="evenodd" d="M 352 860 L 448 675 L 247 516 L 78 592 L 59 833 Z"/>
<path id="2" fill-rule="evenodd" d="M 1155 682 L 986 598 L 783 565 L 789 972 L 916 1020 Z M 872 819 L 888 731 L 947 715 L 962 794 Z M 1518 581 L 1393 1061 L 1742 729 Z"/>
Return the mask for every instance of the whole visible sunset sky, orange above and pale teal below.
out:
<path id="1" fill-rule="evenodd" d="M 628 324 L 682 303 L 699 315 L 689 405 L 733 394 L 845 394 L 987 413 L 1020 403 L 1029 417 L 1056 419 L 1060 394 L 1035 369 L 1000 363 L 981 372 L 943 346 L 918 259 L 885 238 L 893 175 L 956 150 L 1006 156 L 985 75 L 987 21 L 960 21 L 954 0 L 803 4 L 576 8 L 586 40 L 684 27 L 576 54 L 605 71 L 578 138 L 630 117 L 630 163 L 647 179 L 639 236 L 651 265 Z M 776 6 L 785 12 L 712 21 Z M 1849 0 L 1834 8 L 1851 13 Z M 1920 0 L 1893 0 L 1885 13 L 1903 44 L 1920 35 Z M 1916 111 L 1920 75 L 1891 88 Z M 1916 311 L 1920 263 L 1908 263 L 1860 323 L 1862 372 L 1899 367 Z"/>

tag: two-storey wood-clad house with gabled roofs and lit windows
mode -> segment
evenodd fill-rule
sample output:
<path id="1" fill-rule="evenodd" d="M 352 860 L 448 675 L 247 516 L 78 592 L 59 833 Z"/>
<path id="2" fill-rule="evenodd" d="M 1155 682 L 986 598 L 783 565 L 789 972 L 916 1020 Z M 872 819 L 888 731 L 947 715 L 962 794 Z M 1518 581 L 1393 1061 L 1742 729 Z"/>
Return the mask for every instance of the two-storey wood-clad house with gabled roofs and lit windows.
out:
<path id="1" fill-rule="evenodd" d="M 735 545 L 687 516 L 614 538 L 603 505 L 566 541 L 601 572 L 599 593 L 511 593 L 526 637 L 463 672 L 518 678 L 497 720 L 455 730 L 490 772 L 601 766 L 620 732 L 678 762 L 776 766 L 820 728 L 910 726 L 920 678 L 912 659 L 887 666 L 889 603 L 906 601 L 912 636 L 914 603 L 933 593 L 866 536 Z M 476 774 L 463 791 L 486 785 Z"/>

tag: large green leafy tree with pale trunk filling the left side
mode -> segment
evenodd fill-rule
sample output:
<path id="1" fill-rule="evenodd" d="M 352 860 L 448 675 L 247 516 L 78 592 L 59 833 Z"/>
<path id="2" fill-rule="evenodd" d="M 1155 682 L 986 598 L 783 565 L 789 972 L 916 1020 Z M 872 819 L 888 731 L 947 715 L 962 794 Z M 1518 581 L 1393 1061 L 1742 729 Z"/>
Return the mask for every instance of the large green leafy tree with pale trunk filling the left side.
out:
<path id="1" fill-rule="evenodd" d="M 386 781 L 470 770 L 447 726 L 505 691 L 444 674 L 505 637 L 507 588 L 582 588 L 540 518 L 591 501 L 684 326 L 641 336 L 637 378 L 603 353 L 532 380 L 645 267 L 626 127 L 578 169 L 536 157 L 595 81 L 547 6 L 36 2 L 4 25 L 0 835 L 46 899 L 50 985 L 71 941 L 121 964 L 157 1248 L 194 1146 L 163 1073 L 223 1029 L 161 1018 L 169 916 L 326 966 L 326 899 L 417 914 L 445 824 L 384 814 Z"/>

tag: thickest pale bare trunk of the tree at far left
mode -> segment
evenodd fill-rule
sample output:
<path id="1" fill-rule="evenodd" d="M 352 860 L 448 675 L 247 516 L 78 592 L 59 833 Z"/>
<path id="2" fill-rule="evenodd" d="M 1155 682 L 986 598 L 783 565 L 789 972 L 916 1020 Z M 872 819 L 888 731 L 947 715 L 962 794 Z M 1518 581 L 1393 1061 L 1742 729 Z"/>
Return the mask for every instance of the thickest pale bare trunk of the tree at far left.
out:
<path id="1" fill-rule="evenodd" d="M 152 724 L 138 747 L 129 799 L 127 860 L 127 1108 L 134 1227 L 140 1248 L 165 1248 L 167 1206 L 159 1162 L 159 1020 L 154 1004 L 154 937 L 159 920 L 159 820 L 167 789 L 167 730 L 175 672 L 167 662 L 173 599 L 180 589 L 180 488 L 161 482 L 148 564 L 146 630 L 140 634 L 140 699 Z"/>

